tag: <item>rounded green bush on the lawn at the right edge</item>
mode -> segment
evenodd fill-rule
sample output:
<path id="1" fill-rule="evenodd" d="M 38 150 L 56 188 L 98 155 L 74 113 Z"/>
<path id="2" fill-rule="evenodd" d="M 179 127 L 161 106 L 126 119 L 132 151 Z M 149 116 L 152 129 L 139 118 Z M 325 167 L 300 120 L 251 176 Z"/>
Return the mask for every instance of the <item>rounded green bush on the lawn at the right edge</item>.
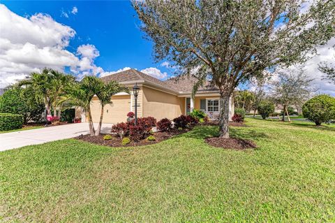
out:
<path id="1" fill-rule="evenodd" d="M 326 94 L 315 96 L 304 103 L 302 114 L 316 125 L 329 122 L 335 119 L 335 98 Z"/>

